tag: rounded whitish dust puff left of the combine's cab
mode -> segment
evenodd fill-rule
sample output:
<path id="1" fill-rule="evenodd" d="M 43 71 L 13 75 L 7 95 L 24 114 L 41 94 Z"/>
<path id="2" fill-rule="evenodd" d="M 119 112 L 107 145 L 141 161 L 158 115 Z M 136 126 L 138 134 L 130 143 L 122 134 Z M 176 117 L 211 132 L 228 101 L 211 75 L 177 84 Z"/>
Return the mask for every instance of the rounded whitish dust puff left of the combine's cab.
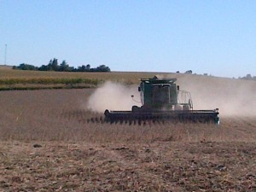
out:
<path id="1" fill-rule="evenodd" d="M 141 106 L 138 85 L 106 82 L 90 96 L 87 108 L 102 113 L 108 110 L 129 110 L 133 105 Z M 134 96 L 131 98 L 131 96 Z"/>

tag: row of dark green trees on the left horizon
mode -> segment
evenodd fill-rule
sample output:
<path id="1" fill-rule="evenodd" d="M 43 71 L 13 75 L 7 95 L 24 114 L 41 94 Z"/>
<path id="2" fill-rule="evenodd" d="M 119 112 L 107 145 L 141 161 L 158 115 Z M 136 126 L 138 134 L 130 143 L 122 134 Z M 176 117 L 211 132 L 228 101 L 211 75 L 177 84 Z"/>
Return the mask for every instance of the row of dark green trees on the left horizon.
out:
<path id="1" fill-rule="evenodd" d="M 19 66 L 14 66 L 13 69 L 55 72 L 110 72 L 110 68 L 105 65 L 100 65 L 99 67 L 90 67 L 90 64 L 87 64 L 86 66 L 82 65 L 76 68 L 70 67 L 65 60 L 59 65 L 58 60 L 55 58 L 50 60 L 48 65 L 42 65 L 41 67 L 21 63 Z"/>

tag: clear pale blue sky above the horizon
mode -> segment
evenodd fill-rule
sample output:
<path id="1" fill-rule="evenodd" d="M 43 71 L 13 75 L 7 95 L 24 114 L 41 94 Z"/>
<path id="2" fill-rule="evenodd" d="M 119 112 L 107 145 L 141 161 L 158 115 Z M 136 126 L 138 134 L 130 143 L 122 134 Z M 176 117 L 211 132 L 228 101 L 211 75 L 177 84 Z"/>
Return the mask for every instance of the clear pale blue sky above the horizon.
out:
<path id="1" fill-rule="evenodd" d="M 0 0 L 0 63 L 256 76 L 256 1 Z"/>

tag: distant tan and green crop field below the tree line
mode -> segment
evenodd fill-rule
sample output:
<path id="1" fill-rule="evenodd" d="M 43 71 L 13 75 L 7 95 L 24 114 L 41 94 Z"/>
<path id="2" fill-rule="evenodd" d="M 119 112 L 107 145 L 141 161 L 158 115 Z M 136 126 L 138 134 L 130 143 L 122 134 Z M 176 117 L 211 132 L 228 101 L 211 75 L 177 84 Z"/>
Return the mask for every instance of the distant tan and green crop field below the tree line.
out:
<path id="1" fill-rule="evenodd" d="M 0 90 L 93 88 L 108 80 L 137 84 L 139 79 L 153 77 L 154 74 L 39 72 L 0 67 Z"/>

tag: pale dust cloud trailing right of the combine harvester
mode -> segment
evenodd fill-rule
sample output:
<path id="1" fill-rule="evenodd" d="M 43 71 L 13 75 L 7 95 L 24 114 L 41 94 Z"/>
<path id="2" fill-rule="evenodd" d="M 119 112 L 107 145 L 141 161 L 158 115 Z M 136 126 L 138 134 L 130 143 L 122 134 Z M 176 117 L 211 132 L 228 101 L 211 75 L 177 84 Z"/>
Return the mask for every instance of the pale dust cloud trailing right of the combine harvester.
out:
<path id="1" fill-rule="evenodd" d="M 191 93 L 194 109 L 219 108 L 222 116 L 256 116 L 255 81 L 183 75 L 177 77 L 177 84 Z"/>

